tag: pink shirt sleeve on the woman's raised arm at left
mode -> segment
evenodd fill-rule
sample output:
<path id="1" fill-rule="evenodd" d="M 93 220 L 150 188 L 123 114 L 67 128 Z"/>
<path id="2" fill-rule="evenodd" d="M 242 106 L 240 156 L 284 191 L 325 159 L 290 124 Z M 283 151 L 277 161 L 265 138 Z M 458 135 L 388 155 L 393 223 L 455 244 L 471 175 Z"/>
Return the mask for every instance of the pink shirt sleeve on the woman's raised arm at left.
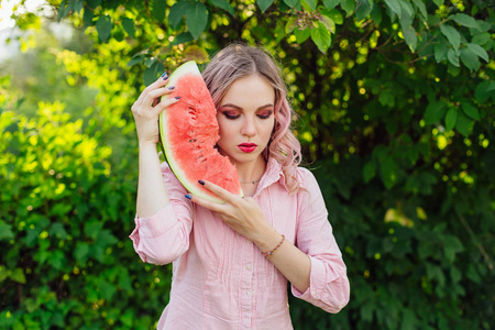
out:
<path id="1" fill-rule="evenodd" d="M 193 204 L 185 198 L 187 190 L 166 163 L 162 164 L 162 175 L 170 202 L 150 218 L 136 215 L 130 235 L 141 260 L 157 265 L 173 262 L 189 249 L 193 229 Z"/>

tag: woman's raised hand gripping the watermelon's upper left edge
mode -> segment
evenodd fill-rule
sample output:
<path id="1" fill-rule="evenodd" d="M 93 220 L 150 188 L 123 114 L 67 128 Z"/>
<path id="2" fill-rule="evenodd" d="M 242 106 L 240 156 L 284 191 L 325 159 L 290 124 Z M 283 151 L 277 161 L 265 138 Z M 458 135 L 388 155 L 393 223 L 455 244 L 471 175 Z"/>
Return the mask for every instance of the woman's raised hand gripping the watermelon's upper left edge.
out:
<path id="1" fill-rule="evenodd" d="M 165 74 L 147 86 L 131 107 L 140 145 L 158 143 L 158 116 L 168 106 L 178 101 L 178 97 L 164 97 L 174 89 L 167 84 L 168 76 Z M 160 98 L 162 99 L 158 102 Z"/>

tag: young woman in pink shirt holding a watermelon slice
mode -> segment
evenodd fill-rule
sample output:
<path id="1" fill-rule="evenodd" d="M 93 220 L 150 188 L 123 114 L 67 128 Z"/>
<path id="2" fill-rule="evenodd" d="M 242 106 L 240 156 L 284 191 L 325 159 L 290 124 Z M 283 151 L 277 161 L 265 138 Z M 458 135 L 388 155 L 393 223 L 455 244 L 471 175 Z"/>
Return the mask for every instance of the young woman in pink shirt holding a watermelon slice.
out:
<path id="1" fill-rule="evenodd" d="M 140 170 L 131 239 L 144 262 L 173 262 L 158 329 L 292 329 L 287 280 L 294 296 L 338 312 L 349 301 L 346 270 L 318 183 L 298 167 L 280 70 L 264 51 L 234 44 L 202 76 L 218 110 L 218 150 L 235 164 L 244 198 L 204 180 L 224 204 L 191 196 L 160 164 L 157 117 L 180 102 L 167 98 L 166 76 L 132 107 Z"/>

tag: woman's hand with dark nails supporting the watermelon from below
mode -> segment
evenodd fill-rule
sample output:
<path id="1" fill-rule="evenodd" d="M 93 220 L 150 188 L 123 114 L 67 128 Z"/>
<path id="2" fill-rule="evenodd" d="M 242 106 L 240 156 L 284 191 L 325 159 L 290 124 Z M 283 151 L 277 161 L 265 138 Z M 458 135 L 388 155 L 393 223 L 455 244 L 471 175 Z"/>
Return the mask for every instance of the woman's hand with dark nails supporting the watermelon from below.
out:
<path id="1" fill-rule="evenodd" d="M 216 212 L 226 224 L 248 240 L 256 243 L 262 240 L 264 234 L 274 230 L 252 197 L 242 198 L 210 182 L 205 182 L 205 188 L 217 195 L 224 204 L 198 196 L 193 196 L 191 200 Z"/>

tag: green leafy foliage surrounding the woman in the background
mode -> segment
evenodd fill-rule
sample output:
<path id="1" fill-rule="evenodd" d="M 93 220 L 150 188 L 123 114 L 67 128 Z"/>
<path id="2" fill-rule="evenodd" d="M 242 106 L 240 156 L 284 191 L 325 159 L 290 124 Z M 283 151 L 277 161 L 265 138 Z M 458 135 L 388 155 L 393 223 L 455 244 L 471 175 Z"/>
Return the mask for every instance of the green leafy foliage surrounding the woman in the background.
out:
<path id="1" fill-rule="evenodd" d="M 48 2 L 0 64 L 1 329 L 155 326 L 130 107 L 233 41 L 284 66 L 351 279 L 338 315 L 290 298 L 295 328 L 495 328 L 493 1 Z"/>

